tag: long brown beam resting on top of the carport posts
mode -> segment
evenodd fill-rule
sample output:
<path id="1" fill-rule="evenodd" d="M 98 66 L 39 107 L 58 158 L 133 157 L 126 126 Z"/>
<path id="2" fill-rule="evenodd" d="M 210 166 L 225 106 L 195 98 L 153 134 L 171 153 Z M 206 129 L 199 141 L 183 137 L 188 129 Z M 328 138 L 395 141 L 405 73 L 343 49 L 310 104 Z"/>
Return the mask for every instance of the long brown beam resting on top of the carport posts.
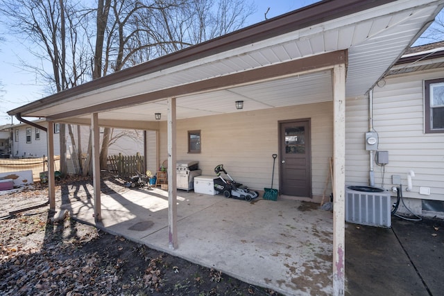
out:
<path id="1" fill-rule="evenodd" d="M 162 98 L 175 98 L 187 94 L 196 94 L 202 92 L 210 92 L 214 89 L 223 89 L 237 85 L 245 85 L 251 82 L 259 82 L 264 80 L 271 80 L 284 76 L 292 76 L 307 71 L 321 71 L 322 69 L 331 69 L 336 64 L 348 64 L 348 51 L 334 51 L 324 53 L 322 55 L 314 55 L 309 58 L 299 60 L 292 60 L 282 64 L 273 64 L 271 66 L 252 69 L 240 73 L 234 73 L 226 76 L 210 78 L 198 82 L 192 82 L 188 85 L 180 85 L 170 87 L 168 89 L 161 89 L 156 92 L 148 94 L 140 94 L 128 98 L 122 98 L 117 101 L 101 103 L 92 107 L 80 108 L 78 110 L 71 110 L 60 114 L 48 116 L 47 119 L 51 121 L 60 121 L 69 117 L 82 116 L 93 112 L 103 112 L 105 110 L 113 110 L 121 107 L 137 105 L 140 103 L 148 103 Z"/>

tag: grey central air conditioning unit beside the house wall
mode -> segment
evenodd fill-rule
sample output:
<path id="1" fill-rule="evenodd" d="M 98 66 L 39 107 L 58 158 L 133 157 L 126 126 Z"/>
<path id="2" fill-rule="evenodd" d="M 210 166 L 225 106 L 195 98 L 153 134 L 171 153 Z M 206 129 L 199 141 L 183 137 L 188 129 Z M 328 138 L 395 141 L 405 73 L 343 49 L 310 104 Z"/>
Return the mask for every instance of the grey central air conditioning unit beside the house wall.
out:
<path id="1" fill-rule="evenodd" d="M 345 188 L 345 221 L 391 227 L 391 198 L 385 189 L 370 186 Z"/>

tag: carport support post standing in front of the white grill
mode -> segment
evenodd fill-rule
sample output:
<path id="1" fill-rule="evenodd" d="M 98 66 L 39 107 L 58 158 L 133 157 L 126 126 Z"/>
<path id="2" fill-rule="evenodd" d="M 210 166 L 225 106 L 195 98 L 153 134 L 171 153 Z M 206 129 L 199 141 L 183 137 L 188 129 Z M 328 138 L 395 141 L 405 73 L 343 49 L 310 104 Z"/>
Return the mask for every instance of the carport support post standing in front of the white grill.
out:
<path id="1" fill-rule="evenodd" d="M 178 247 L 178 205 L 176 179 L 176 98 L 168 99 L 168 246 Z"/>

